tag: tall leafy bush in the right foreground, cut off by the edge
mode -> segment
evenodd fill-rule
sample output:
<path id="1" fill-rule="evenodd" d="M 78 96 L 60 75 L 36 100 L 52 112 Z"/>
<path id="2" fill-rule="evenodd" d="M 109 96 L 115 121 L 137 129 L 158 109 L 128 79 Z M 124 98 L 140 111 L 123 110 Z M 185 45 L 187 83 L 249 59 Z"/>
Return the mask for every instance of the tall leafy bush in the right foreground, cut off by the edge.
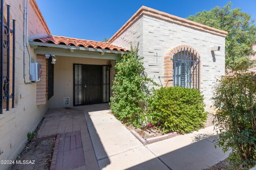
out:
<path id="1" fill-rule="evenodd" d="M 219 112 L 215 124 L 220 135 L 217 143 L 230 160 L 244 168 L 256 164 L 256 86 L 253 72 L 233 72 L 215 86 L 214 106 Z"/>

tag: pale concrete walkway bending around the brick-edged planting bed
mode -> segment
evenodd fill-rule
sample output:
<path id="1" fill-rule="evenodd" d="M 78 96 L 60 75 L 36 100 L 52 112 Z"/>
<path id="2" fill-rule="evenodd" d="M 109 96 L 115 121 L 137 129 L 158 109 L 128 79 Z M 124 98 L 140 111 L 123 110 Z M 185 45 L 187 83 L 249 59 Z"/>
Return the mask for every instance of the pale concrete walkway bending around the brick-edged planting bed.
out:
<path id="1" fill-rule="evenodd" d="M 213 127 L 143 146 L 116 118 L 108 105 L 81 106 L 100 169 L 199 170 L 228 154 L 214 149 Z M 95 111 L 96 109 L 96 111 Z"/>

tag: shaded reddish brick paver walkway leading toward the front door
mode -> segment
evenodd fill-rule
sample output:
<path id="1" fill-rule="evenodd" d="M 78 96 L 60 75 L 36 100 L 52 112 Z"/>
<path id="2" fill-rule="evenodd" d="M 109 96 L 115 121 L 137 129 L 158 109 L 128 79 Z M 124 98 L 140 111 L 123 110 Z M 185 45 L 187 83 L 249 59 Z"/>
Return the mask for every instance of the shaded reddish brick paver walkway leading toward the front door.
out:
<path id="1" fill-rule="evenodd" d="M 50 109 L 38 130 L 37 138 L 51 135 L 58 135 L 51 170 L 99 169 L 85 116 L 81 110 Z"/>

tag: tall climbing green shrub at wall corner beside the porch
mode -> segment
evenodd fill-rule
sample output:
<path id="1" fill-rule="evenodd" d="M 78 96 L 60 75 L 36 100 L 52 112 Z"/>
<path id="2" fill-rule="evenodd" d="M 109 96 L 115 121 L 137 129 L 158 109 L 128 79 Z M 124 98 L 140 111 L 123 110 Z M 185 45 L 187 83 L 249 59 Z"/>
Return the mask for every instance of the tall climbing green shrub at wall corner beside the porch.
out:
<path id="1" fill-rule="evenodd" d="M 110 108 L 118 120 L 140 126 L 140 118 L 145 111 L 148 84 L 154 83 L 145 74 L 143 57 L 138 55 L 138 46 L 129 54 L 121 56 L 115 65 L 115 80 L 112 86 L 113 96 L 110 98 Z"/>

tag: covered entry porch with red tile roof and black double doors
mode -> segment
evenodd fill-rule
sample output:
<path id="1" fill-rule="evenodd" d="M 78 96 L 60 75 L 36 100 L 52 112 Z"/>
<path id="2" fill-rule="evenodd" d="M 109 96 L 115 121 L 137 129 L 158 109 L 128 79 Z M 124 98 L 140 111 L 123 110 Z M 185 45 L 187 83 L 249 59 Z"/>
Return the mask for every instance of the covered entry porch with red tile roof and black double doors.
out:
<path id="1" fill-rule="evenodd" d="M 42 78 L 36 83 L 37 105 L 60 108 L 109 102 L 115 61 L 126 49 L 58 36 L 29 44 L 42 65 Z"/>

